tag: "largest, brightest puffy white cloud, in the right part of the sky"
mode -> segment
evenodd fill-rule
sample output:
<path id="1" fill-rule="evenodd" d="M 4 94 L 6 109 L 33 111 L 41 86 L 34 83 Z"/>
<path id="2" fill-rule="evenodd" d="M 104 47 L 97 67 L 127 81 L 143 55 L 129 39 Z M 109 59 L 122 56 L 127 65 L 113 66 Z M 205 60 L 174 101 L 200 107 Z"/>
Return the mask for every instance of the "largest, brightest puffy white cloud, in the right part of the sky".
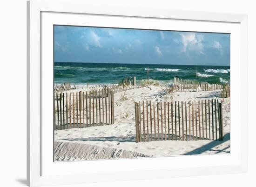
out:
<path id="1" fill-rule="evenodd" d="M 203 44 L 204 35 L 195 34 L 195 33 L 180 33 L 182 37 L 182 52 L 186 53 L 187 49 L 191 51 L 197 51 L 203 53 Z"/>

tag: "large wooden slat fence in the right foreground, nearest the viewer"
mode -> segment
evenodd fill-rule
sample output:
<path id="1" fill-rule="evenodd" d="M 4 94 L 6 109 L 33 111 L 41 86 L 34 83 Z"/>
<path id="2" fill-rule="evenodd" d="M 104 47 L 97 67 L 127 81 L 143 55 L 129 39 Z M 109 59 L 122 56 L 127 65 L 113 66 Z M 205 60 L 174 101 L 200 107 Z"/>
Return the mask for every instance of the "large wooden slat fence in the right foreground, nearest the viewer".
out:
<path id="1" fill-rule="evenodd" d="M 136 142 L 223 140 L 219 100 L 135 103 Z"/>

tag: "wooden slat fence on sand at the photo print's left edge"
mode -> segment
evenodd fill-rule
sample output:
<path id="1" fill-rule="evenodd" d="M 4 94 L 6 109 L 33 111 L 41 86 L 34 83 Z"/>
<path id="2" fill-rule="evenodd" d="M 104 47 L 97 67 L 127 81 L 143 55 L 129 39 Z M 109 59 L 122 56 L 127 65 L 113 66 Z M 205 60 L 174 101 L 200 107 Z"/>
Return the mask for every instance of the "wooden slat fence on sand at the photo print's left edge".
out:
<path id="1" fill-rule="evenodd" d="M 54 129 L 114 124 L 114 92 L 54 93 Z"/>

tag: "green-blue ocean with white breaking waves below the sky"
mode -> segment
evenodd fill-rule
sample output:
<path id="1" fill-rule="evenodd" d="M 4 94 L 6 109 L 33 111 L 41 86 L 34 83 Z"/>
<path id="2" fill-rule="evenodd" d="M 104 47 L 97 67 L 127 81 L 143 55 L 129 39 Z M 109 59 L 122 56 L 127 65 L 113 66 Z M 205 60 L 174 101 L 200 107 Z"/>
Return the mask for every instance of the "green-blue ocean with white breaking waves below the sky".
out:
<path id="1" fill-rule="evenodd" d="M 54 83 L 61 84 L 115 84 L 127 76 L 136 76 L 136 80 L 158 80 L 160 84 L 171 84 L 175 76 L 225 83 L 230 80 L 229 66 L 195 66 L 195 65 L 162 65 L 162 64 L 112 64 L 112 63 L 54 63 Z"/>

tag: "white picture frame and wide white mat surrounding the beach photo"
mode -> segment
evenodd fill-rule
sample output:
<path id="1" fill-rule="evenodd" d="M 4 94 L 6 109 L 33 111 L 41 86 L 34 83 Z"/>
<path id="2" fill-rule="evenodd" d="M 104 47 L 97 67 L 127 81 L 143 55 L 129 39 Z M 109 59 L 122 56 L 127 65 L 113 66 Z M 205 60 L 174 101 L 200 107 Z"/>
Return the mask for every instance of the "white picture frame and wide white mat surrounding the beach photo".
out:
<path id="1" fill-rule="evenodd" d="M 51 121 L 51 117 L 45 111 L 51 102 L 42 103 L 45 101 L 43 98 L 48 97 L 47 94 L 50 97 L 52 94 L 47 92 L 52 87 L 45 86 L 46 82 L 53 81 L 51 76 L 46 76 L 52 73 L 46 63 L 52 59 L 52 56 L 44 49 L 50 48 L 53 43 L 53 40 L 47 40 L 51 38 L 47 32 L 51 33 L 49 28 L 58 23 L 83 25 L 82 21 L 86 19 L 82 18 L 86 17 L 82 16 L 90 16 L 94 19 L 94 26 L 97 24 L 97 19 L 94 17 L 97 16 L 106 20 L 104 23 L 106 27 L 137 28 L 139 26 L 136 26 L 136 21 L 131 22 L 129 19 L 143 19 L 145 22 L 148 20 L 148 25 L 140 26 L 143 28 L 162 29 L 160 27 L 163 27 L 163 22 L 172 21 L 174 25 L 176 22 L 176 26 L 173 27 L 182 31 L 231 33 L 230 82 L 231 84 L 236 82 L 237 85 L 231 87 L 231 106 L 235 103 L 234 100 L 237 101 L 236 109 L 231 112 L 231 132 L 234 134 L 233 137 L 236 136 L 232 138 L 231 135 L 231 153 L 207 157 L 195 155 L 54 163 L 51 160 L 53 142 L 51 138 L 48 140 L 44 138 L 53 134 L 53 127 L 44 125 L 47 120 Z M 111 19 L 116 19 L 115 23 Z M 149 26 L 150 21 L 155 22 Z M 112 22 L 113 25 L 111 25 Z M 186 24 L 181 24 L 182 22 Z M 87 4 L 84 0 L 31 0 L 27 2 L 27 23 L 27 185 L 67 185 L 247 172 L 247 15 L 141 7 L 106 7 Z M 50 50 L 49 53 L 51 53 Z M 232 72 L 234 72 L 233 75 Z M 51 111 L 49 114 L 52 114 Z M 200 162 L 197 162 L 198 160 Z M 212 160 L 212 163 L 206 166 L 204 162 L 209 160 Z M 188 164 L 178 165 L 180 162 Z M 189 165 L 190 162 L 194 164 Z M 159 167 L 158 163 L 171 164 L 163 164 L 164 166 Z M 100 166 L 109 169 L 101 168 L 99 172 Z M 113 169 L 111 170 L 110 167 Z M 70 168 L 69 171 L 74 171 L 75 168 L 76 172 L 67 172 L 67 168 Z M 85 171 L 84 168 L 88 168 L 89 171 Z"/>

